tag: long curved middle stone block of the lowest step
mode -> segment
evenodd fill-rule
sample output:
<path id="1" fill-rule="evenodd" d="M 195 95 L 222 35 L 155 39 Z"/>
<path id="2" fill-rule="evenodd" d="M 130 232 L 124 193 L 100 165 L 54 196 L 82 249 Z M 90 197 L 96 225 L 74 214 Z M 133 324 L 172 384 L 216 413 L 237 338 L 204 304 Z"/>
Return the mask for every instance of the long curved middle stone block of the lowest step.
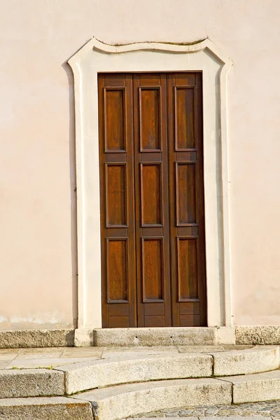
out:
<path id="1" fill-rule="evenodd" d="M 167 408 L 230 404 L 232 388 L 218 379 L 175 379 L 112 386 L 74 398 L 91 401 L 99 420 L 117 420 Z"/>

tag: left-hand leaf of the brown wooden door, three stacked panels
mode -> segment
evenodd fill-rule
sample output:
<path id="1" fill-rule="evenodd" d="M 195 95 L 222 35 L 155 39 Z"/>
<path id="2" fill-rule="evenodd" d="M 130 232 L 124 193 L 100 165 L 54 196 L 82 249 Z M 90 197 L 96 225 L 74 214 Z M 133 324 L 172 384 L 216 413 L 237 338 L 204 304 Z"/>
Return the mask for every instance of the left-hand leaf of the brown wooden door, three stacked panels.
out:
<path id="1" fill-rule="evenodd" d="M 98 89 L 102 325 L 135 327 L 132 75 L 99 75 Z"/>

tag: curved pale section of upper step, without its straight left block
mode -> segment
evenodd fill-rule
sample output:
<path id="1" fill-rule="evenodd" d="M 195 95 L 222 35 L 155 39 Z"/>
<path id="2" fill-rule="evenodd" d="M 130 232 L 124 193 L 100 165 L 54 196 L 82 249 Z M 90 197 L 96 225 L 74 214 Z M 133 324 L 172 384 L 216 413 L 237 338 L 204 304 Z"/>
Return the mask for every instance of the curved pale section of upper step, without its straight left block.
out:
<path id="1" fill-rule="evenodd" d="M 130 382 L 251 374 L 278 369 L 279 347 L 217 353 L 130 356 L 59 367 L 66 394 Z"/>

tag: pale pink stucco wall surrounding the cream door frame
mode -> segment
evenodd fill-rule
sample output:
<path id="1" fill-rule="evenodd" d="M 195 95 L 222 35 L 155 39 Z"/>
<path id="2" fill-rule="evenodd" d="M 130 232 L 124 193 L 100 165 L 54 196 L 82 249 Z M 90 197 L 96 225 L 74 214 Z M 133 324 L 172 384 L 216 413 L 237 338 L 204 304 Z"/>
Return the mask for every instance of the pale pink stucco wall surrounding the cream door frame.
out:
<path id="1" fill-rule="evenodd" d="M 1 0 L 0 328 L 76 325 L 73 77 L 89 38 L 196 41 L 228 79 L 235 324 L 280 323 L 279 0 Z"/>

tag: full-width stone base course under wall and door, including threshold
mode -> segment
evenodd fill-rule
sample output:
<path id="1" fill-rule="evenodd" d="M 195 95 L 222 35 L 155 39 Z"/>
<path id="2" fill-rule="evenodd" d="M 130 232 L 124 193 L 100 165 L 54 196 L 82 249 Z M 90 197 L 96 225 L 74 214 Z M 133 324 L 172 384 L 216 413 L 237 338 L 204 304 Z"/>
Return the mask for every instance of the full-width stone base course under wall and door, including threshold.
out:
<path id="1" fill-rule="evenodd" d="M 0 331 L 0 349 L 220 344 L 279 345 L 280 325 Z"/>

